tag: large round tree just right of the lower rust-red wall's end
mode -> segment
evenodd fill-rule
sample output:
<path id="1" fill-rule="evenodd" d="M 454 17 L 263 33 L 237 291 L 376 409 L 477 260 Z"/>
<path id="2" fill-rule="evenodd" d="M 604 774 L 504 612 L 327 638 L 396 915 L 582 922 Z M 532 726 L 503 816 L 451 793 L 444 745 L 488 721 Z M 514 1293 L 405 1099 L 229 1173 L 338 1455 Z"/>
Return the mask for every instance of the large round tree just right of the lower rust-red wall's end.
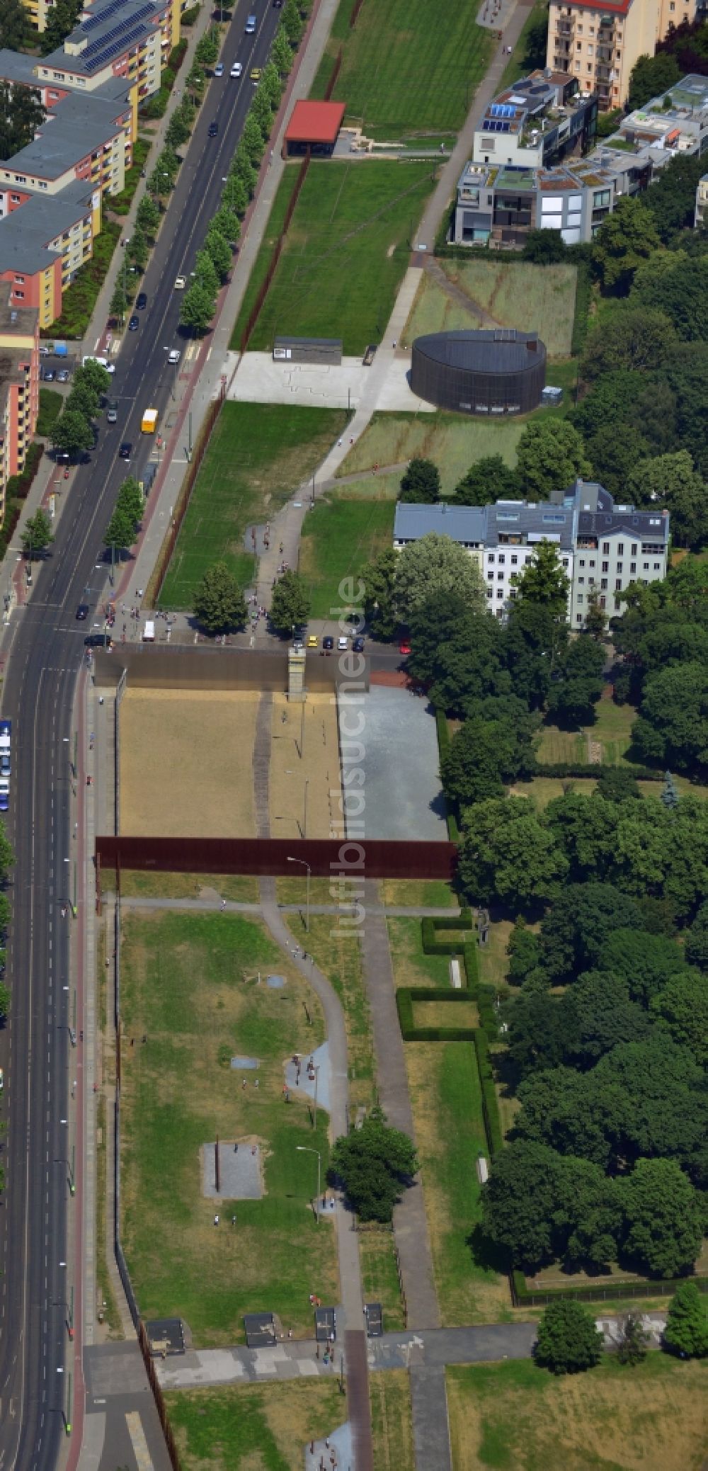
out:
<path id="1" fill-rule="evenodd" d="M 525 911 L 562 884 L 568 863 L 527 797 L 478 802 L 465 827 L 458 872 L 474 902 Z"/>

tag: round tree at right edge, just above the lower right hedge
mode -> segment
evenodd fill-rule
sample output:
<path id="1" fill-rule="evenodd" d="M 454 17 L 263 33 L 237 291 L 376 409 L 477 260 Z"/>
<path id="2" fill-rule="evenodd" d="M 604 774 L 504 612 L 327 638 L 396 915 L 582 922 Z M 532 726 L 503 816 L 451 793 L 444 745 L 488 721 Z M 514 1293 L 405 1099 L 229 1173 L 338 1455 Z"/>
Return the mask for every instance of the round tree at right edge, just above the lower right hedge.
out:
<path id="1" fill-rule="evenodd" d="M 624 1252 L 640 1271 L 679 1277 L 701 1250 L 698 1196 L 674 1159 L 639 1159 L 621 1181 Z"/>

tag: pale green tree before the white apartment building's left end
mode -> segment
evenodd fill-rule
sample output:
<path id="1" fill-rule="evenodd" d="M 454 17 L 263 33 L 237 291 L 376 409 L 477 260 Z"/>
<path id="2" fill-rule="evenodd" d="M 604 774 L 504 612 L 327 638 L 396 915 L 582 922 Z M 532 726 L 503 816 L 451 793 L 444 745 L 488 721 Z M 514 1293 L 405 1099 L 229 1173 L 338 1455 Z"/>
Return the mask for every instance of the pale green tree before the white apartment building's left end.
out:
<path id="1" fill-rule="evenodd" d="M 415 610 L 436 593 L 458 597 L 478 610 L 486 606 L 477 560 L 452 537 L 428 531 L 397 555 L 393 606 L 400 622 L 409 622 Z"/>

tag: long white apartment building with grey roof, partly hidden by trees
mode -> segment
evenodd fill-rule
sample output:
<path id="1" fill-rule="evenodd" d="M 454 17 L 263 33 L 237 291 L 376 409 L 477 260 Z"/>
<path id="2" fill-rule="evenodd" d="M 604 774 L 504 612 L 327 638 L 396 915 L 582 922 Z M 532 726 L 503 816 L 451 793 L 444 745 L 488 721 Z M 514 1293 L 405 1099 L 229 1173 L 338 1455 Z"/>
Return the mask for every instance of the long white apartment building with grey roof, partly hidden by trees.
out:
<path id="1" fill-rule="evenodd" d="M 480 566 L 487 603 L 505 618 L 517 596 L 514 578 L 540 541 L 558 549 L 568 578 L 568 622 L 584 625 L 590 594 L 608 618 L 621 612 L 630 583 L 667 575 L 670 518 L 667 510 L 617 505 L 603 485 L 578 480 L 548 502 L 498 500 L 493 506 L 408 506 L 399 502 L 393 524 L 396 550 L 428 531 L 450 535 Z"/>

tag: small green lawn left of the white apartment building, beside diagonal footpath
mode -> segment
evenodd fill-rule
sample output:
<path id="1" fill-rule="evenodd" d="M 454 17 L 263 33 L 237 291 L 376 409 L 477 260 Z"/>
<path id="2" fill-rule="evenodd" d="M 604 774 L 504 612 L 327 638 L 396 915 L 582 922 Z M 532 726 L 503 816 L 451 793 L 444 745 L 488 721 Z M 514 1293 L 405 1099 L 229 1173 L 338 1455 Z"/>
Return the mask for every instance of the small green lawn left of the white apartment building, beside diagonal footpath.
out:
<path id="1" fill-rule="evenodd" d="M 392 546 L 393 500 L 352 500 L 347 490 L 331 491 L 305 516 L 299 571 L 312 597 L 312 618 L 339 616 L 343 578 L 358 577 Z"/>

